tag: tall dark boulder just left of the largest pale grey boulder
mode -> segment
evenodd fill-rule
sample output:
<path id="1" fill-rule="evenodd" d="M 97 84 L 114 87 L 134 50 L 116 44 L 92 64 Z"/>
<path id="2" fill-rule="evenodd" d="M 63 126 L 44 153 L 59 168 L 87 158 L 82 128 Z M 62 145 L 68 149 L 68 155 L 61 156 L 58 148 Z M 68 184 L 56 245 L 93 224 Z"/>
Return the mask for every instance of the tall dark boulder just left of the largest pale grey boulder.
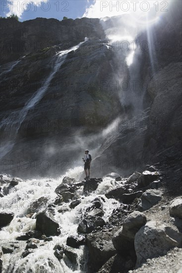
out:
<path id="1" fill-rule="evenodd" d="M 135 257 L 134 236 L 146 223 L 146 216 L 139 211 L 133 211 L 125 219 L 122 227 L 115 233 L 112 241 L 116 250 L 122 255 Z"/>

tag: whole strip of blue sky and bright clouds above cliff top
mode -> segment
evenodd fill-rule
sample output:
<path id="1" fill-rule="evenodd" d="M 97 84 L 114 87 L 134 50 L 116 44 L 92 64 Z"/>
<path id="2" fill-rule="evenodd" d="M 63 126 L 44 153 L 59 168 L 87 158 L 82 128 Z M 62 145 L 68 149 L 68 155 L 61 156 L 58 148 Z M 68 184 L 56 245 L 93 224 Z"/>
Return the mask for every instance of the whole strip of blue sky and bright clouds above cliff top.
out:
<path id="1" fill-rule="evenodd" d="M 133 3 L 135 2 L 135 3 Z M 0 15 L 9 16 L 14 13 L 19 21 L 37 17 L 56 18 L 103 18 L 124 13 L 133 17 L 145 17 L 151 8 L 157 14 L 165 14 L 174 0 L 0 0 Z"/>

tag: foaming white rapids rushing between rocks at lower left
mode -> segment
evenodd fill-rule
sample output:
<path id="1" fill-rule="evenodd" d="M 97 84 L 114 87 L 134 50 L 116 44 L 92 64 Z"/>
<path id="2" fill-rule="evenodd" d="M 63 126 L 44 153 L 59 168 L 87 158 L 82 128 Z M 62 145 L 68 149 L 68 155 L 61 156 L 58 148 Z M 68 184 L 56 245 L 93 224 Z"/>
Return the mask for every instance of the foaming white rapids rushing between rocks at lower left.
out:
<path id="1" fill-rule="evenodd" d="M 78 179 L 82 167 L 76 167 L 65 173 L 66 176 L 72 176 Z M 9 179 L 3 175 L 3 179 Z M 63 203 L 65 212 L 59 212 L 59 206 L 55 207 L 55 219 L 61 227 L 61 235 L 52 236 L 52 241 L 44 242 L 40 240 L 38 248 L 34 249 L 34 252 L 28 256 L 22 258 L 22 253 L 25 251 L 26 241 L 17 241 L 16 238 L 22 235 L 24 232 L 35 229 L 36 219 L 32 216 L 29 218 L 27 215 L 27 209 L 32 201 L 39 199 L 40 197 L 47 197 L 49 199 L 48 204 L 53 204 L 57 195 L 55 189 L 61 184 L 63 177 L 59 179 L 33 179 L 27 181 L 21 181 L 19 184 L 9 190 L 9 194 L 1 199 L 1 211 L 11 211 L 14 213 L 14 218 L 11 223 L 2 228 L 0 242 L 2 247 L 8 247 L 9 245 L 16 245 L 16 250 L 11 254 L 3 255 L 3 273 L 80 273 L 86 272 L 87 261 L 87 249 L 85 246 L 74 249 L 77 254 L 77 266 L 73 265 L 69 259 L 63 255 L 63 259 L 59 262 L 54 256 L 54 250 L 56 244 L 62 245 L 66 243 L 66 239 L 69 235 L 77 234 L 77 227 L 80 219 L 84 217 L 84 213 L 87 208 L 93 205 L 92 201 L 95 198 L 104 198 L 103 202 L 103 219 L 107 222 L 114 208 L 117 208 L 120 204 L 116 200 L 107 199 L 105 197 L 106 189 L 112 189 L 114 185 L 111 183 L 110 177 L 105 177 L 103 182 L 99 185 L 95 192 L 90 195 L 83 194 L 83 187 L 76 191 L 76 195 L 80 198 L 81 203 L 76 207 L 70 209 L 69 203 Z M 113 182 L 114 183 L 114 182 Z M 3 191 L 7 185 L 3 185 Z M 47 205 L 48 205 L 47 204 Z M 45 207 L 42 209 L 44 210 Z M 34 213 L 35 215 L 36 213 Z M 27 216 L 26 216 L 27 215 Z"/>

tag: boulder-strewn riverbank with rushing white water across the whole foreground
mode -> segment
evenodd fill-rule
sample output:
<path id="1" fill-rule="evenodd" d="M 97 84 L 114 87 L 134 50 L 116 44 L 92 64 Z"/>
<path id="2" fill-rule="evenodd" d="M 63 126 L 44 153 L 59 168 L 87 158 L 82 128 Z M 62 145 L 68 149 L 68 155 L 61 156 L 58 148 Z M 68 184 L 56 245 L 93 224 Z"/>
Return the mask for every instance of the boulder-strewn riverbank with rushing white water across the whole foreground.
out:
<path id="1" fill-rule="evenodd" d="M 42 185 L 38 182 L 37 189 L 41 187 L 45 194 L 36 194 L 37 198 L 34 195 L 30 201 L 30 190 L 24 199 L 19 193 L 20 187 L 29 182 L 10 175 L 0 176 L 2 272 L 33 270 L 31 261 L 37 262 L 35 257 L 41 249 L 49 249 L 50 253 L 49 258 L 46 254 L 40 258 L 44 272 L 55 272 L 63 265 L 67 271 L 63 268 L 61 272 L 66 273 L 74 270 L 159 273 L 161 270 L 171 272 L 170 269 L 174 273 L 180 272 L 180 181 L 178 191 L 172 194 L 166 187 L 165 173 L 148 165 L 142 173 L 134 172 L 127 178 L 111 173 L 88 181 L 66 176 L 60 182 L 57 181 L 57 187 L 52 188 L 52 198 L 46 192 L 54 182 L 48 180 Z M 10 196 L 14 198 L 11 205 L 7 203 Z M 27 201 L 28 205 L 12 212 L 17 200 Z M 67 217 L 73 215 L 74 231 L 67 226 L 67 233 L 63 225 Z M 26 226 L 25 220 L 31 221 L 31 225 L 23 232 L 20 226 Z M 15 228 L 17 222 L 19 230 Z M 14 240 L 5 240 L 5 232 L 13 233 L 13 229 L 16 230 Z M 15 259 L 16 265 L 13 264 Z M 167 259 L 172 261 L 170 269 L 169 263 L 165 263 Z M 26 265 L 23 263 L 25 260 Z"/>

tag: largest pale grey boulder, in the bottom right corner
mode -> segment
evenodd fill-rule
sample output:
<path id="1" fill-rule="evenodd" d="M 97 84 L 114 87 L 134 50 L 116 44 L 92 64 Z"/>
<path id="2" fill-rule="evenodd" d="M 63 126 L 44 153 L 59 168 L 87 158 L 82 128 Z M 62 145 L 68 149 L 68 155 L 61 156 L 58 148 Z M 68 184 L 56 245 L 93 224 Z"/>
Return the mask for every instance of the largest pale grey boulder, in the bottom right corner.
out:
<path id="1" fill-rule="evenodd" d="M 134 246 L 136 267 L 140 267 L 147 259 L 164 255 L 173 247 L 182 247 L 182 233 L 170 226 L 149 221 L 136 233 Z"/>

